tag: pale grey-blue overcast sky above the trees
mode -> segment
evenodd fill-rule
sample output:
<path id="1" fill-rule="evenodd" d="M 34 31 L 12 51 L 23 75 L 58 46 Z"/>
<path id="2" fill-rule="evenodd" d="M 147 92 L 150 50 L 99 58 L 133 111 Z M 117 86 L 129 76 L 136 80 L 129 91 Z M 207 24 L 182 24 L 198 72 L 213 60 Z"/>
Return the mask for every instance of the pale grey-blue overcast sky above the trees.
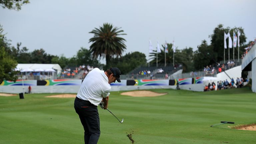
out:
<path id="1" fill-rule="evenodd" d="M 128 52 L 149 58 L 153 47 L 165 40 L 178 49 L 210 44 L 218 24 L 244 28 L 247 42 L 256 37 L 256 0 L 30 0 L 20 11 L 0 8 L 0 24 L 7 39 L 29 52 L 43 48 L 70 58 L 80 47 L 89 49 L 89 34 L 103 23 L 121 27 Z M 103 61 L 102 61 L 103 62 Z"/>

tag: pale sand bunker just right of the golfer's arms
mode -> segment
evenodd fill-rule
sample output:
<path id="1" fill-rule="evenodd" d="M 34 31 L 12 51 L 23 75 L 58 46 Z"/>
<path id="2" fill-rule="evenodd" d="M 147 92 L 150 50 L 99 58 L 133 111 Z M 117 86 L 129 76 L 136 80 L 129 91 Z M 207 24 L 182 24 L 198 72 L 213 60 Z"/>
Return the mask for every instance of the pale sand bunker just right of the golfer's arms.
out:
<path id="1" fill-rule="evenodd" d="M 128 95 L 132 97 L 155 97 L 166 95 L 167 93 L 157 93 L 152 91 L 130 91 L 130 92 L 123 92 L 121 95 Z"/>

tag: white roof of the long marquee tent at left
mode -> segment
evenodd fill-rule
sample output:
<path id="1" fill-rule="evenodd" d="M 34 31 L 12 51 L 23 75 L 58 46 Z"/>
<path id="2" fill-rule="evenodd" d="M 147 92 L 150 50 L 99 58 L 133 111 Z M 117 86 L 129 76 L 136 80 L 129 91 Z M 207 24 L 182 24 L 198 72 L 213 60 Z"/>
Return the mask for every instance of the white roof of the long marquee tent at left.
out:
<path id="1" fill-rule="evenodd" d="M 47 69 L 53 69 L 57 71 L 57 74 L 60 74 L 62 71 L 62 68 L 60 67 L 59 64 L 18 64 L 17 69 L 19 70 L 25 70 L 25 69 L 41 69 L 43 71 Z"/>

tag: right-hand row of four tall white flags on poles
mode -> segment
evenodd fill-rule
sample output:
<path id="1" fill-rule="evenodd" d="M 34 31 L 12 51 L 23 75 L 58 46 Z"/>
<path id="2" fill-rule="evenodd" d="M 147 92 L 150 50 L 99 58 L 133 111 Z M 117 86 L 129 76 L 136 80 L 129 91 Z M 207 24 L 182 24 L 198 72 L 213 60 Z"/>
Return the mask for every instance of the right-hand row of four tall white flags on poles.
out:
<path id="1" fill-rule="evenodd" d="M 236 46 L 238 46 L 238 61 L 239 61 L 240 35 L 241 35 L 240 31 L 237 31 L 237 35 L 235 31 L 233 31 L 233 42 L 232 42 L 230 33 L 228 32 L 228 34 L 226 34 L 224 32 L 224 63 L 225 63 L 225 49 L 227 49 L 227 42 L 226 42 L 227 38 L 228 38 L 228 48 L 233 48 L 233 60 L 235 60 L 235 48 Z M 228 49 L 228 61 L 230 61 L 229 49 Z"/>

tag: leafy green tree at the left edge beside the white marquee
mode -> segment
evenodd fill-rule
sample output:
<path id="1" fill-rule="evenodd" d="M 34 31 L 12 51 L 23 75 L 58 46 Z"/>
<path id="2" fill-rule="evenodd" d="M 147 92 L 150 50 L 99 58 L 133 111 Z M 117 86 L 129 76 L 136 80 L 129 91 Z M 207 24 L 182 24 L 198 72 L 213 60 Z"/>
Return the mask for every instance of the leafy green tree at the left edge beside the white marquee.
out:
<path id="1" fill-rule="evenodd" d="M 10 49 L 9 46 L 10 44 L 3 34 L 3 28 L 0 25 L 0 84 L 3 80 L 17 80 L 15 76 L 17 72 L 14 70 L 17 66 L 17 61 L 6 52 L 6 50 Z"/>

